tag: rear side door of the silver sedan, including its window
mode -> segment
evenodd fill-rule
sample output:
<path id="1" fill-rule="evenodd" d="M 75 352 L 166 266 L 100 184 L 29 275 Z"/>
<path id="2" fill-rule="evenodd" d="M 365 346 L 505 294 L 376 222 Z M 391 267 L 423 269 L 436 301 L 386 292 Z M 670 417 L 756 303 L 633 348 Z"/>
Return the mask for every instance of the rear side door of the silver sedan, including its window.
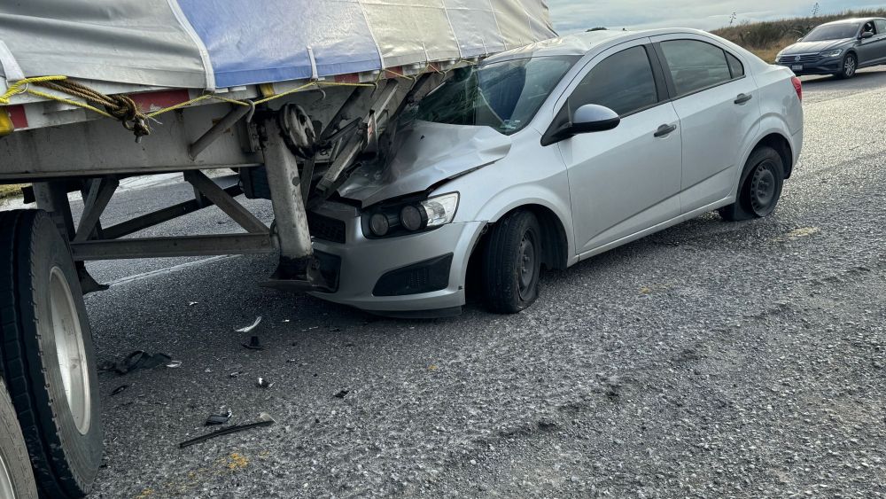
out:
<path id="1" fill-rule="evenodd" d="M 734 194 L 744 145 L 759 127 L 759 90 L 734 53 L 698 35 L 652 39 L 680 117 L 682 213 Z"/>

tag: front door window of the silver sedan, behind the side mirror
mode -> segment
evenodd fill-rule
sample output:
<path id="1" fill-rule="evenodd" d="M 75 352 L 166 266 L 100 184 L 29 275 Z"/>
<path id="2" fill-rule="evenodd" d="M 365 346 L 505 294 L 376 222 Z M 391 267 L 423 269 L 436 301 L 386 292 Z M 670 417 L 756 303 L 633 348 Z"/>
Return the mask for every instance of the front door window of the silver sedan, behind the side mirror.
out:
<path id="1" fill-rule="evenodd" d="M 620 116 L 656 105 L 656 78 L 644 47 L 620 51 L 594 67 L 567 101 L 569 116 L 582 105 L 605 105 Z"/>

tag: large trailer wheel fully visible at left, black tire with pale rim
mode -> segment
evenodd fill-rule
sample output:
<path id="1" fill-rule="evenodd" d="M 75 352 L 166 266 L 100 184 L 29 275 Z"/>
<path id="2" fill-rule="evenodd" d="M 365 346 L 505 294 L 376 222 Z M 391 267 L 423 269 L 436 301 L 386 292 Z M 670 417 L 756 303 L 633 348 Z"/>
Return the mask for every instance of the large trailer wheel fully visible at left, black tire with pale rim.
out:
<path id="1" fill-rule="evenodd" d="M 74 261 L 42 211 L 0 214 L 0 228 L 4 378 L 37 487 L 45 497 L 82 497 L 101 464 L 102 427 L 92 333 Z"/>

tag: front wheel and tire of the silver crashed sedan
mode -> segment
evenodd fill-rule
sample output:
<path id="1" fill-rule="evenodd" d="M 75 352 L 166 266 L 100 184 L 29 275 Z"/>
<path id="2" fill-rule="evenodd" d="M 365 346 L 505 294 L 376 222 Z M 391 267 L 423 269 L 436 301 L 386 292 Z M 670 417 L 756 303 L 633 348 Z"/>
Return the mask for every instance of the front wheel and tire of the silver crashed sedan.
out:
<path id="1" fill-rule="evenodd" d="M 509 214 L 493 226 L 483 258 L 483 294 L 490 311 L 517 314 L 538 299 L 541 234 L 538 219 L 528 211 Z"/>

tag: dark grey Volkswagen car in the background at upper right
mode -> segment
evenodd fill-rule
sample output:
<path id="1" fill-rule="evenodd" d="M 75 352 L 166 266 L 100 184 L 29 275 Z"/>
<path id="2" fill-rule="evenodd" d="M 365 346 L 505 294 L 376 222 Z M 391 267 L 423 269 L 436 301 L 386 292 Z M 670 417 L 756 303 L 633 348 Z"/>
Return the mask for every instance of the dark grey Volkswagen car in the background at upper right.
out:
<path id="1" fill-rule="evenodd" d="M 775 62 L 795 74 L 851 78 L 861 67 L 886 64 L 886 19 L 845 19 L 816 27 L 781 51 Z"/>

